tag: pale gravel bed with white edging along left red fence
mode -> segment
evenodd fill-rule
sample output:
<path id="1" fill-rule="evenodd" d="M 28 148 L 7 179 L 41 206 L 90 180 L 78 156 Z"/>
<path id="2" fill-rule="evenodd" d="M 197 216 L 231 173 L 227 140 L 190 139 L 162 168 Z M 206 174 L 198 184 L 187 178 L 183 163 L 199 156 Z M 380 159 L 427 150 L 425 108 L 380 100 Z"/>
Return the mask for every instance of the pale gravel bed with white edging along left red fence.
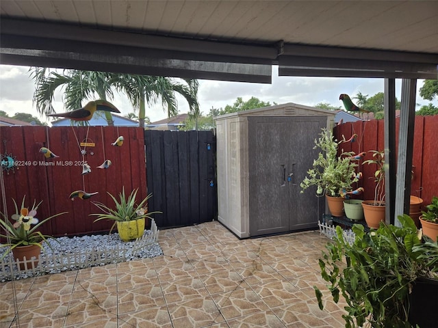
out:
<path id="1" fill-rule="evenodd" d="M 146 230 L 144 232 L 144 236 L 151 234 L 151 230 Z M 117 233 L 114 234 L 102 234 L 102 235 L 92 235 L 92 236 L 81 236 L 81 237 L 60 237 L 60 238 L 49 238 L 48 241 L 49 245 L 47 243 L 43 243 L 44 252 L 42 251 L 41 259 L 44 259 L 41 263 L 40 267 L 38 267 L 38 271 L 36 273 L 32 273 L 31 271 L 27 271 L 26 273 L 21 273 L 18 275 L 16 264 L 14 265 L 14 272 L 17 273 L 15 278 L 16 279 L 22 279 L 27 277 L 33 277 L 38 275 L 47 275 L 52 273 L 60 273 L 63 271 L 73 271 L 77 269 L 83 269 L 86 267 L 96 267 L 101 266 L 109 263 L 118 263 L 118 262 L 125 262 L 130 260 L 138 260 L 141 258 L 154 258 L 155 256 L 163 255 L 163 251 L 161 247 L 159 247 L 159 244 L 157 242 L 149 243 L 145 245 L 144 247 L 140 249 L 134 249 L 134 246 L 136 245 L 134 241 L 122 241 Z M 50 247 L 49 247 L 50 246 Z M 129 247 L 131 246 L 131 247 Z M 73 255 L 79 253 L 85 253 L 84 251 L 87 251 L 90 254 L 95 254 L 96 252 L 105 254 L 105 252 L 108 249 L 116 249 L 117 247 L 127 249 L 126 253 L 123 254 L 120 258 L 112 258 L 108 259 L 105 258 L 105 256 L 101 256 L 101 261 L 99 258 L 96 259 L 96 256 L 94 256 L 93 261 L 94 263 L 88 263 L 85 256 L 81 256 L 81 265 L 75 265 L 75 264 L 66 264 L 64 267 L 60 269 L 56 269 L 56 267 L 53 264 L 53 255 L 56 254 L 59 256 L 60 254 L 64 256 Z M 0 249 L 0 258 L 3 256 L 3 253 L 5 252 L 5 249 Z M 7 265 L 5 265 L 5 272 L 9 273 L 9 258 L 6 256 L 3 259 L 3 262 Z M 2 275 L 0 273 L 0 282 L 5 282 L 11 280 L 10 274 L 8 275 Z"/>

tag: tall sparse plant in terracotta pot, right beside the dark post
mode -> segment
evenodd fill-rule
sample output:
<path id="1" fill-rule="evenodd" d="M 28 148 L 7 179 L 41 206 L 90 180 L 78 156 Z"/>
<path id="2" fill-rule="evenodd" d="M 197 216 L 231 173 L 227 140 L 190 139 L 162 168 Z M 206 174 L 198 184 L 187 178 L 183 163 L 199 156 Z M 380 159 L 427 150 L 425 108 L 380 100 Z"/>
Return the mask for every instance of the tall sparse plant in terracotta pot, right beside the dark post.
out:
<path id="1" fill-rule="evenodd" d="M 363 215 L 368 227 L 377 229 L 380 221 L 385 221 L 385 153 L 377 150 L 370 150 L 372 159 L 364 161 L 363 164 L 376 165 L 374 172 L 374 200 L 362 202 Z"/>

